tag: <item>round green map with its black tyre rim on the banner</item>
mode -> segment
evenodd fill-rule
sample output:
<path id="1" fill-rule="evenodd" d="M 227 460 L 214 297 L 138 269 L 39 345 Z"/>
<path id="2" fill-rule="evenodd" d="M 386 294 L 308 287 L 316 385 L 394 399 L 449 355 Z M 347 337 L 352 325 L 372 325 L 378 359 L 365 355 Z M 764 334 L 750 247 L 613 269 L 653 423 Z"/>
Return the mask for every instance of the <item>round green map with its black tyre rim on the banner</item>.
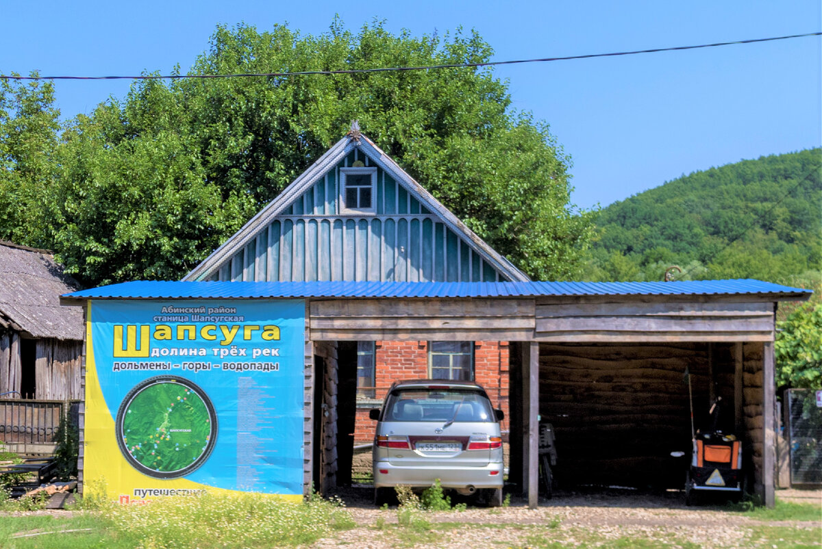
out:
<path id="1" fill-rule="evenodd" d="M 157 478 L 191 473 L 217 439 L 205 392 L 178 376 L 151 377 L 128 392 L 117 413 L 117 441 L 132 467 Z"/>

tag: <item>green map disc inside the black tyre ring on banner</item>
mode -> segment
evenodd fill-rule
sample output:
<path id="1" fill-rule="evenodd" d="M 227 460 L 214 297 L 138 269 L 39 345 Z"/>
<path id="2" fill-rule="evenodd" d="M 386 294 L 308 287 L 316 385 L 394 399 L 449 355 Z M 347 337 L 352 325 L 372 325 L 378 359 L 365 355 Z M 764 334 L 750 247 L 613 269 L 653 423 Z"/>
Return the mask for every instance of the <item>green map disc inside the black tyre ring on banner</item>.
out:
<path id="1" fill-rule="evenodd" d="M 191 468 L 207 456 L 212 436 L 209 409 L 192 388 L 158 381 L 139 390 L 122 410 L 122 448 L 159 473 Z"/>

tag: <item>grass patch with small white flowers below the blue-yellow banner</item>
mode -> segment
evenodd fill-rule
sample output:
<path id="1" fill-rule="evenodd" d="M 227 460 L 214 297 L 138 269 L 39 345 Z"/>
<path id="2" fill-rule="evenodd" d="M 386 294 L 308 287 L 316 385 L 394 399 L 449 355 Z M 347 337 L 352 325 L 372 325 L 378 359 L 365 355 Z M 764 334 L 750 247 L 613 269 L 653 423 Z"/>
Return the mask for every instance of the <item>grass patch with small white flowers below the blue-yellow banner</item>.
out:
<path id="1" fill-rule="evenodd" d="M 339 503 L 319 498 L 294 504 L 261 494 L 169 497 L 66 518 L 2 516 L 0 547 L 289 547 L 354 526 Z M 85 528 L 90 531 L 60 533 Z M 15 536 L 31 530 L 51 534 Z"/>

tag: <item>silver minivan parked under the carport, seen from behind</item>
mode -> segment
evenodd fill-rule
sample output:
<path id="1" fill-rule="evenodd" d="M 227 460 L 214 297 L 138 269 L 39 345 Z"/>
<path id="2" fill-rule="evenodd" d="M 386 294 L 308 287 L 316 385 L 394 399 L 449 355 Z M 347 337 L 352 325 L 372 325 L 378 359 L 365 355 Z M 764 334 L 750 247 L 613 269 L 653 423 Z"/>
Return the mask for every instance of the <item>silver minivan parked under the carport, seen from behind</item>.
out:
<path id="1" fill-rule="evenodd" d="M 470 381 L 413 380 L 391 386 L 377 420 L 373 446 L 374 499 L 396 486 L 441 486 L 488 505 L 502 503 L 502 410 Z"/>

